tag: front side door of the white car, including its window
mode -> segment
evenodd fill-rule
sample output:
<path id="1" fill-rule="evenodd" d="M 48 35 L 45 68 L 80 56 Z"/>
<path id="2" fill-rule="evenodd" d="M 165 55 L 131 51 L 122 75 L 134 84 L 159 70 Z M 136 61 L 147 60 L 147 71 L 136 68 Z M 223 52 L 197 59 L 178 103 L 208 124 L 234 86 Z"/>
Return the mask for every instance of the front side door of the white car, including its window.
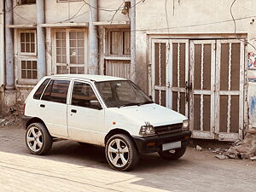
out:
<path id="1" fill-rule="evenodd" d="M 90 83 L 74 81 L 67 122 L 73 140 L 104 144 L 104 109 Z"/>

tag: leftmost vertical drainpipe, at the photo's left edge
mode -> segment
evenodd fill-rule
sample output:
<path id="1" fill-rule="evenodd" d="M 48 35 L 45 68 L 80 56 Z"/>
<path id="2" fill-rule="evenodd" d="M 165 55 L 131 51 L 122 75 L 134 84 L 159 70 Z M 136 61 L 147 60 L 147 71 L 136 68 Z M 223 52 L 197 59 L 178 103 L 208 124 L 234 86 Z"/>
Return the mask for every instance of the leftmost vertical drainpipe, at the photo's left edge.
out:
<path id="1" fill-rule="evenodd" d="M 13 24 L 13 0 L 5 1 L 5 25 Z M 5 27 L 5 70 L 6 90 L 15 89 L 14 31 Z"/>

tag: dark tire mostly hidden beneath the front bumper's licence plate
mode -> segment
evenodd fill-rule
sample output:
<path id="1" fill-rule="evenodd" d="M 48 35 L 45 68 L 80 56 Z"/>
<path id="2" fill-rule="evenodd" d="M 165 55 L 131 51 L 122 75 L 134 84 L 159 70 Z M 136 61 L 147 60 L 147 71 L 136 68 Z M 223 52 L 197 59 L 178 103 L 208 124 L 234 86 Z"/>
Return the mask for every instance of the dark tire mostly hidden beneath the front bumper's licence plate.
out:
<path id="1" fill-rule="evenodd" d="M 177 160 L 185 154 L 187 146 L 181 148 L 175 148 L 167 151 L 159 151 L 158 154 L 164 160 Z"/>

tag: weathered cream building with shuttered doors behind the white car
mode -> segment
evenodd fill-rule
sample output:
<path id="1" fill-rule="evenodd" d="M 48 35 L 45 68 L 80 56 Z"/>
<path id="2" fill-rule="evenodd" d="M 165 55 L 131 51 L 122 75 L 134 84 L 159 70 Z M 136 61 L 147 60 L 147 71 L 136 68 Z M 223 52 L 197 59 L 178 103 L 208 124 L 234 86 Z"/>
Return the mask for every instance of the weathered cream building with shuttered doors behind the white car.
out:
<path id="1" fill-rule="evenodd" d="M 99 73 L 131 78 L 189 116 L 193 137 L 234 141 L 256 126 L 253 0 L 6 2 L 15 58 L 7 106 L 44 75 Z"/>

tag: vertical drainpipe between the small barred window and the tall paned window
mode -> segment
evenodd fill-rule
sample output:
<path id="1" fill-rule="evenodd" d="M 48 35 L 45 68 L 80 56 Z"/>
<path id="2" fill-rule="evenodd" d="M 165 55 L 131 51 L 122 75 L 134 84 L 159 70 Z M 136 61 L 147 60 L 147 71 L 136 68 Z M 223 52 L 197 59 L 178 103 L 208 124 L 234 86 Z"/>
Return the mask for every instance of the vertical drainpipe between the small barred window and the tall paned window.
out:
<path id="1" fill-rule="evenodd" d="M 40 24 L 45 23 L 44 0 L 37 0 L 37 39 L 38 39 L 38 79 L 46 75 L 45 30 Z"/>

